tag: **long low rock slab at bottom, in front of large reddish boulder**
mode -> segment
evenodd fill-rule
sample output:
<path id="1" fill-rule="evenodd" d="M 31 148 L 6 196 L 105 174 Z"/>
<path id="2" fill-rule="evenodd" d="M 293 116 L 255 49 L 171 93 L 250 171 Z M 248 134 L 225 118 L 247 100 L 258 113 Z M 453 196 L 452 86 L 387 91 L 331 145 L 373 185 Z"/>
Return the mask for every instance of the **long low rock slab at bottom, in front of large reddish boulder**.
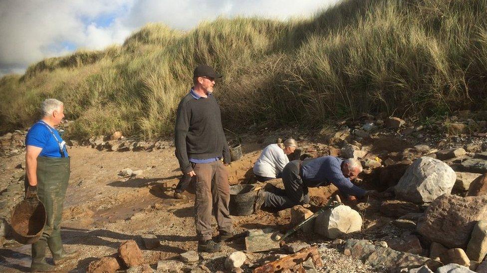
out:
<path id="1" fill-rule="evenodd" d="M 424 265 L 436 270 L 442 265 L 442 263 L 426 257 L 376 246 L 367 240 L 347 240 L 343 253 L 361 260 L 371 267 L 381 267 L 389 271 L 402 268 L 413 269 Z"/>

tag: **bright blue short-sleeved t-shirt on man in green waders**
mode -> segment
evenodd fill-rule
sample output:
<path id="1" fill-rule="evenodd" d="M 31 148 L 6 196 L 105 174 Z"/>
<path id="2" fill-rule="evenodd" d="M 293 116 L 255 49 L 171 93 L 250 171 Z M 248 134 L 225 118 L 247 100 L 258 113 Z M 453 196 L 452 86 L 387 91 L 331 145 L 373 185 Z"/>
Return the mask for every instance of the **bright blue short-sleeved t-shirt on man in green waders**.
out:
<path id="1" fill-rule="evenodd" d="M 59 152 L 59 144 L 57 143 L 56 139 L 61 143 L 63 143 L 63 140 L 59 135 L 59 132 L 49 126 L 56 136 L 56 139 L 54 139 L 54 136 L 51 134 L 47 126 L 49 125 L 42 120 L 39 120 L 37 123 L 32 125 L 27 132 L 27 136 L 25 136 L 25 146 L 30 145 L 42 148 L 42 151 L 40 151 L 39 154 L 41 157 L 61 157 Z M 62 150 L 64 152 L 64 156 L 68 157 L 66 145 L 63 144 Z"/>

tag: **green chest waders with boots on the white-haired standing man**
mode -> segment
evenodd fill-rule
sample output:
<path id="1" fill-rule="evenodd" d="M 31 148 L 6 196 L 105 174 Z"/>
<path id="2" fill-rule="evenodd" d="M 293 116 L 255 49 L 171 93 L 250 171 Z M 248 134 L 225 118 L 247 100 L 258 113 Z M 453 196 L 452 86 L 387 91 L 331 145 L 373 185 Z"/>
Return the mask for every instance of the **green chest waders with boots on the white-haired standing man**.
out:
<path id="1" fill-rule="evenodd" d="M 31 269 L 45 264 L 46 244 L 54 262 L 63 256 L 60 223 L 69 175 L 69 157 L 37 157 L 37 195 L 46 209 L 46 224 L 40 239 L 32 244 Z M 28 185 L 27 179 L 25 184 Z"/>

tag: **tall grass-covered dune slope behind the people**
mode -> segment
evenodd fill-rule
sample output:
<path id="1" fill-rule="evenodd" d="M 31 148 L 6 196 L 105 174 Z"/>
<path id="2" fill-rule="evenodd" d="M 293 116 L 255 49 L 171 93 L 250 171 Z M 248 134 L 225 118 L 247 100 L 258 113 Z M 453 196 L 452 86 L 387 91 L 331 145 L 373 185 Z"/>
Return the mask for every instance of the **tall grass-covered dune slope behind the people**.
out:
<path id="1" fill-rule="evenodd" d="M 168 135 L 200 63 L 225 75 L 216 95 L 233 129 L 487 109 L 485 14 L 487 0 L 349 0 L 307 20 L 220 18 L 187 33 L 149 24 L 122 46 L 3 77 L 1 130 L 29 126 L 56 97 L 71 137 Z"/>

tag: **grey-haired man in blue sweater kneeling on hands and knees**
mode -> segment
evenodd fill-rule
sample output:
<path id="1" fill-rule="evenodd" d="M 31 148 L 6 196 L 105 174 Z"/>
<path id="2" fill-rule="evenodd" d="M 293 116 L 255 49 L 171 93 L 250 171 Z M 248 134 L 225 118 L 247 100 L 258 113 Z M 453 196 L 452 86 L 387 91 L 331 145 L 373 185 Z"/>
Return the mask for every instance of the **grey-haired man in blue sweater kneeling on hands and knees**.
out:
<path id="1" fill-rule="evenodd" d="M 282 170 L 284 190 L 268 192 L 260 189 L 255 200 L 254 209 L 273 207 L 279 209 L 309 202 L 308 187 L 326 186 L 333 183 L 341 193 L 362 197 L 378 195 L 376 190 L 364 190 L 354 185 L 354 180 L 362 172 L 362 165 L 356 159 L 342 160 L 325 156 L 309 160 L 294 160 Z"/>

